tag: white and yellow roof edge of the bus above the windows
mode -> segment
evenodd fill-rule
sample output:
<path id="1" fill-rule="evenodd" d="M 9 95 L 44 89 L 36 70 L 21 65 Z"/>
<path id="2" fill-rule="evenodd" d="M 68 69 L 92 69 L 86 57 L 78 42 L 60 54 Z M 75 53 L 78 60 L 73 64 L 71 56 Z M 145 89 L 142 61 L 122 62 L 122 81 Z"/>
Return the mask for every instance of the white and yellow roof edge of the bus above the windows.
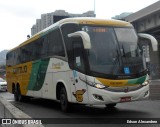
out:
<path id="1" fill-rule="evenodd" d="M 41 36 L 45 35 L 49 31 L 54 29 L 55 27 L 58 27 L 58 26 L 61 26 L 63 24 L 67 24 L 67 23 L 77 23 L 77 24 L 86 24 L 86 25 L 101 25 L 101 26 L 106 25 L 106 26 L 116 26 L 116 27 L 132 27 L 132 24 L 129 22 L 120 21 L 120 20 L 113 20 L 113 19 L 108 20 L 108 19 L 97 19 L 97 18 L 89 18 L 89 17 L 66 18 L 66 19 L 62 19 L 62 20 L 58 21 L 57 23 L 54 23 L 51 26 L 47 27 L 46 29 L 40 31 L 39 33 L 35 34 L 30 39 L 24 41 L 23 43 L 21 43 L 20 45 L 18 45 L 17 47 L 15 47 L 13 49 L 11 49 L 10 51 L 13 51 L 23 45 L 26 45 L 26 44 L 40 38 Z"/>

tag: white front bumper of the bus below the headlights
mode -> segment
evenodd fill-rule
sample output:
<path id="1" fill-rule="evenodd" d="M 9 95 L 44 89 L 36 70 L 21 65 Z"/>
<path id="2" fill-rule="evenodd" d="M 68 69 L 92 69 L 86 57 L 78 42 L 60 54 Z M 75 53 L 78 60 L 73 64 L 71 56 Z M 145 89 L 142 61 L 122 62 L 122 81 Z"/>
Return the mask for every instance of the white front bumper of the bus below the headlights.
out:
<path id="1" fill-rule="evenodd" d="M 143 100 L 149 97 L 149 85 L 130 92 L 111 92 L 105 89 L 97 89 L 88 86 L 89 104 L 121 103 L 122 98 L 130 98 L 128 101 Z M 127 102 L 127 100 L 126 100 Z"/>

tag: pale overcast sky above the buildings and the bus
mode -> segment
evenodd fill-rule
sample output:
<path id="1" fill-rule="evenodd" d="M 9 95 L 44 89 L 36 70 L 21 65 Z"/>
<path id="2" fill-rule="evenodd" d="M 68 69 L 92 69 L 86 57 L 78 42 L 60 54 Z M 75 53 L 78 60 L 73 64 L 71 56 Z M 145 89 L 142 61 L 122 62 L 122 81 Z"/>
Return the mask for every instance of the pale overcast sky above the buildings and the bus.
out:
<path id="1" fill-rule="evenodd" d="M 158 0 L 95 0 L 97 18 L 111 19 L 123 12 L 137 12 Z M 27 39 L 43 13 L 65 10 L 81 14 L 94 10 L 94 0 L 0 0 L 0 51 Z"/>

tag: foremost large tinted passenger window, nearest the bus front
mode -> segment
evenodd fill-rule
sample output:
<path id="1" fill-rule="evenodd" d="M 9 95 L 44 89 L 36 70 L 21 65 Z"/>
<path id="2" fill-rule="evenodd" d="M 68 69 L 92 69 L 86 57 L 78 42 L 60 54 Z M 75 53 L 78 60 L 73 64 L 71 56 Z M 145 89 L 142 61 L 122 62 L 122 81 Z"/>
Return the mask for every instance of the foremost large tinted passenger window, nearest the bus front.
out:
<path id="1" fill-rule="evenodd" d="M 60 30 L 56 29 L 52 31 L 51 33 L 49 33 L 48 38 L 49 38 L 48 55 L 65 56 Z"/>

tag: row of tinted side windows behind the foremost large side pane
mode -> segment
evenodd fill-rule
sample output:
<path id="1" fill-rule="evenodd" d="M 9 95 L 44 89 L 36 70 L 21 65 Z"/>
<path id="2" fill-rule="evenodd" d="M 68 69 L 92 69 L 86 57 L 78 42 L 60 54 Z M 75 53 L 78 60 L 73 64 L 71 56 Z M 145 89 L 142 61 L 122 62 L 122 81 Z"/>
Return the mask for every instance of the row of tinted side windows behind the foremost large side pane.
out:
<path id="1" fill-rule="evenodd" d="M 9 52 L 7 54 L 7 65 L 16 65 L 47 57 L 47 42 L 45 36 Z"/>

